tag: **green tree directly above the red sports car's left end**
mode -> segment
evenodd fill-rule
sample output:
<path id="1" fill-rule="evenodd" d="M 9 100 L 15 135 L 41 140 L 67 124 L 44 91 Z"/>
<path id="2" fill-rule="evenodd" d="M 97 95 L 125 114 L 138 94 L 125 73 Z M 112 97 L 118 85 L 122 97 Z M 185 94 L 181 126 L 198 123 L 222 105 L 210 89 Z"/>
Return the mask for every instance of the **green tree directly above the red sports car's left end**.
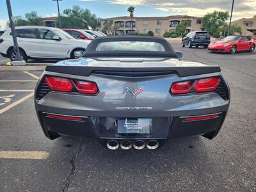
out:
<path id="1" fill-rule="evenodd" d="M 218 12 L 214 11 L 212 13 L 207 13 L 202 18 L 202 25 L 206 31 L 209 33 L 216 33 L 218 29 L 225 27 L 226 21 L 228 20 L 228 12 Z"/>

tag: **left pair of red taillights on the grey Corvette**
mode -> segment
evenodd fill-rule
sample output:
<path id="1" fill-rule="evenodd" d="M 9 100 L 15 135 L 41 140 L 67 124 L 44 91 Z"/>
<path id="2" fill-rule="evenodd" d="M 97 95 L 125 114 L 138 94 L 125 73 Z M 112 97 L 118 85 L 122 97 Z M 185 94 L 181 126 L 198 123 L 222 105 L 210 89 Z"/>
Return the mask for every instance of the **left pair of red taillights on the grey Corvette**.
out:
<path id="1" fill-rule="evenodd" d="M 63 77 L 47 76 L 45 77 L 45 83 L 49 86 L 50 90 L 58 92 L 71 92 L 74 88 L 74 92 L 96 94 L 98 93 L 97 84 L 88 81 L 71 80 Z"/>

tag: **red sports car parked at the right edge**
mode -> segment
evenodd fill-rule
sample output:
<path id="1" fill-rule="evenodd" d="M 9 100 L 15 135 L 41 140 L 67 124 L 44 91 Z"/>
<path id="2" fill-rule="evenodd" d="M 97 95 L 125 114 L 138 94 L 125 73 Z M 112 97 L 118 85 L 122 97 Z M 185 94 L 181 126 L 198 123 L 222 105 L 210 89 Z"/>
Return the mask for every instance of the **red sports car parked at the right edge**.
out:
<path id="1" fill-rule="evenodd" d="M 226 36 L 218 42 L 212 42 L 208 46 L 208 51 L 211 52 L 230 52 L 234 54 L 237 51 L 250 51 L 255 50 L 255 42 L 249 40 L 246 36 Z"/>

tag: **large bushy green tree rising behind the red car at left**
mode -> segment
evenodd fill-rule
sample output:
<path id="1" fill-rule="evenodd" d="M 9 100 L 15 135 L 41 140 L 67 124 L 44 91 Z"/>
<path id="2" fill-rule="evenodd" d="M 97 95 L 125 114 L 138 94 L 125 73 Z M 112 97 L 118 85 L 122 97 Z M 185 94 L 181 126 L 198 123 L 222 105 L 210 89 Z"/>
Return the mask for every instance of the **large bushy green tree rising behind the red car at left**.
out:
<path id="1" fill-rule="evenodd" d="M 92 29 L 96 29 L 98 22 L 99 19 L 95 14 L 78 5 L 73 6 L 72 9 L 64 10 L 61 14 L 62 28 L 88 29 L 90 26 Z M 58 19 L 56 20 L 56 26 L 59 26 Z"/>

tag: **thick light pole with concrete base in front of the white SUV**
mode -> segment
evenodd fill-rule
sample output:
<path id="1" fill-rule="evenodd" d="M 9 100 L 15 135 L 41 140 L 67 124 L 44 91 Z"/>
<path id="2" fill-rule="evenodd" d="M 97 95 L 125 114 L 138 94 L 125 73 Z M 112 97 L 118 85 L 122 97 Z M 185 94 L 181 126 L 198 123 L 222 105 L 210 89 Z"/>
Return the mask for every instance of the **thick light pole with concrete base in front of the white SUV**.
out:
<path id="1" fill-rule="evenodd" d="M 12 6 L 10 3 L 10 0 L 6 0 L 6 5 L 7 5 L 8 16 L 10 21 L 10 28 L 12 30 L 13 50 L 15 51 L 15 58 L 13 61 L 13 65 L 26 65 L 26 62 L 20 56 L 19 45 L 18 45 L 16 33 L 15 33 L 15 27 L 13 24 Z"/>

